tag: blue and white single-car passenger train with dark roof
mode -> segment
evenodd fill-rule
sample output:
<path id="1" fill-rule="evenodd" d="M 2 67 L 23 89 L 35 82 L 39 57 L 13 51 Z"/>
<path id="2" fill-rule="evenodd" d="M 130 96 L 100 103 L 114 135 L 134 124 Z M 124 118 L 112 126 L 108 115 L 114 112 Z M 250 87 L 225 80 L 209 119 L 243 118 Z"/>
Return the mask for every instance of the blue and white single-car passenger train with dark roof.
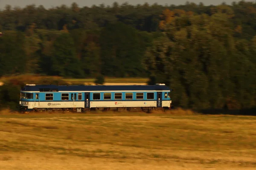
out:
<path id="1" fill-rule="evenodd" d="M 21 112 L 169 110 L 171 91 L 155 85 L 35 85 L 20 90 Z"/>

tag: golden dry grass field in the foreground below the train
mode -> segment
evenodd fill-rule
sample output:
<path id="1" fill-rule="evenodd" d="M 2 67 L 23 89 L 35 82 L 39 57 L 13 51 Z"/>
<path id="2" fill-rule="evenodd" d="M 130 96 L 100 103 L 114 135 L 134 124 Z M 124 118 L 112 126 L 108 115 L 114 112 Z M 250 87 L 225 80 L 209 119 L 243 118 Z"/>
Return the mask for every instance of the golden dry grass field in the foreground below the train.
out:
<path id="1" fill-rule="evenodd" d="M 256 118 L 0 112 L 0 170 L 255 170 Z"/>

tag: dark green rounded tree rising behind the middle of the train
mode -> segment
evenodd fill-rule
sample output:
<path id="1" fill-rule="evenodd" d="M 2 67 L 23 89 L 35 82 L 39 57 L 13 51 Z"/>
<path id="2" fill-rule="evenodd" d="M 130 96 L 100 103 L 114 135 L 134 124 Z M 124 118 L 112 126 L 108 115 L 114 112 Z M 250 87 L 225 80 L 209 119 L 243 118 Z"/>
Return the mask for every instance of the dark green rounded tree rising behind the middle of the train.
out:
<path id="1" fill-rule="evenodd" d="M 113 31 L 115 30 L 115 31 Z M 102 74 L 115 77 L 136 77 L 143 71 L 145 51 L 143 34 L 123 23 L 108 25 L 100 36 Z"/>

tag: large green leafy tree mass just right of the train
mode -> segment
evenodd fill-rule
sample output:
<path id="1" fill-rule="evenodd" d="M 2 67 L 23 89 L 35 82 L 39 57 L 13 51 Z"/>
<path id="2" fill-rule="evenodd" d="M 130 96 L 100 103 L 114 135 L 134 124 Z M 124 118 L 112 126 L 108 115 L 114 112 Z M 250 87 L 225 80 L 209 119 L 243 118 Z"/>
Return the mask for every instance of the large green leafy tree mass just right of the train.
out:
<path id="1" fill-rule="evenodd" d="M 175 105 L 194 109 L 255 107 L 255 63 L 246 57 L 250 56 L 249 44 L 232 37 L 226 16 L 178 17 L 174 23 L 187 20 L 190 25 L 167 25 L 166 34 L 148 48 L 145 69 L 155 82 L 175 89 Z M 198 24 L 200 19 L 203 24 Z"/>

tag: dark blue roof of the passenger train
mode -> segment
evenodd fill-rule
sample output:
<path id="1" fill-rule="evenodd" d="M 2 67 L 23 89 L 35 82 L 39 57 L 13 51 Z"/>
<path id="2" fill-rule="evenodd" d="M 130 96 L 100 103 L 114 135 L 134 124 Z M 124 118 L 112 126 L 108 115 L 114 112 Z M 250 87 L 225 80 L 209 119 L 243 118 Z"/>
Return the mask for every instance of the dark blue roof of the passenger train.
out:
<path id="1" fill-rule="evenodd" d="M 170 91 L 166 85 L 26 85 L 22 91 Z"/>

